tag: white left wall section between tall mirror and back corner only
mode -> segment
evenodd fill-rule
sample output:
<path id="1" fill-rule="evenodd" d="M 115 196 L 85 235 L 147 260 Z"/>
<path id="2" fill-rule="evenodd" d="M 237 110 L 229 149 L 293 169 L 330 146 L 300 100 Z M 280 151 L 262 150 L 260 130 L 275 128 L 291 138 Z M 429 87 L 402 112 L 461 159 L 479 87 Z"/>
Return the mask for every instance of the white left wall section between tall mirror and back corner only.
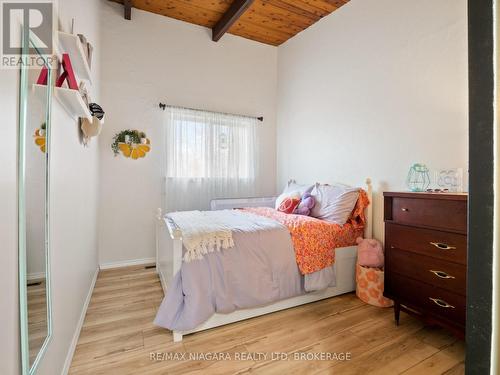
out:
<path id="1" fill-rule="evenodd" d="M 60 27 L 94 45 L 92 98 L 99 100 L 100 0 L 59 2 Z M 77 122 L 54 100 L 50 174 L 53 340 L 38 374 L 61 373 L 97 269 L 99 147 L 80 143 Z"/>

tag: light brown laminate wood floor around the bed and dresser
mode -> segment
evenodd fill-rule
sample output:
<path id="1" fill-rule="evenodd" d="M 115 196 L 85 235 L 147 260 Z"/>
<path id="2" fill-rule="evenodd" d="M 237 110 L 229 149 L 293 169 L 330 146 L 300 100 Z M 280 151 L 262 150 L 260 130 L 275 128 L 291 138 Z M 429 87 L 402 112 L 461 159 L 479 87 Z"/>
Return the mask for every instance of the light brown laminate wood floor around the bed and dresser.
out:
<path id="1" fill-rule="evenodd" d="M 404 313 L 396 327 L 392 309 L 354 294 L 198 332 L 181 343 L 153 325 L 162 298 L 154 269 L 101 271 L 70 374 L 464 373 L 462 341 Z M 322 352 L 339 360 L 321 360 Z M 212 353 L 230 360 L 213 360 Z M 350 359 L 340 360 L 342 353 Z M 196 355 L 205 360 L 189 359 Z"/>

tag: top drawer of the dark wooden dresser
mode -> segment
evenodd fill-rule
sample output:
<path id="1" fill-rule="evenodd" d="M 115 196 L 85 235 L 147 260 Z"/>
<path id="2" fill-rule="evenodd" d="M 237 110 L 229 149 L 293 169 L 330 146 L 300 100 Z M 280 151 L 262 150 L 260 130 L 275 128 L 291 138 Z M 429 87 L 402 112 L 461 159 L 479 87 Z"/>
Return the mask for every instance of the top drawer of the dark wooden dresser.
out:
<path id="1" fill-rule="evenodd" d="M 467 202 L 393 197 L 388 219 L 396 223 L 467 232 Z"/>

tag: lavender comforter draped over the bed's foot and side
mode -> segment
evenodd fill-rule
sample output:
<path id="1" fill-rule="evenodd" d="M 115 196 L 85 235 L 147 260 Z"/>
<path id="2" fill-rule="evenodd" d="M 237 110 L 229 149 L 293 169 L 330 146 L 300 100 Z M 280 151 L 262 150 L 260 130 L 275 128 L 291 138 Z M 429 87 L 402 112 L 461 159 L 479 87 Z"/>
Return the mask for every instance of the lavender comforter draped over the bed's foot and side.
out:
<path id="1" fill-rule="evenodd" d="M 233 248 L 182 263 L 158 310 L 156 325 L 188 331 L 216 312 L 264 306 L 335 285 L 333 267 L 305 277 L 300 274 L 290 233 L 280 223 L 241 212 L 232 233 Z"/>

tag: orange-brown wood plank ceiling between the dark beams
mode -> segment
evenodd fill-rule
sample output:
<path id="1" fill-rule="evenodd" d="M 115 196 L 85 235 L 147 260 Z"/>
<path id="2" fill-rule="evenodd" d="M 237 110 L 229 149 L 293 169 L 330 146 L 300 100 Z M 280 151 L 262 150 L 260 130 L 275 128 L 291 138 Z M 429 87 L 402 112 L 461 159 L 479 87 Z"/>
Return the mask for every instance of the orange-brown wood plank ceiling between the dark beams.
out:
<path id="1" fill-rule="evenodd" d="M 348 1 L 255 0 L 227 32 L 278 46 Z M 132 0 L 134 8 L 208 28 L 217 24 L 232 3 L 233 0 Z"/>

